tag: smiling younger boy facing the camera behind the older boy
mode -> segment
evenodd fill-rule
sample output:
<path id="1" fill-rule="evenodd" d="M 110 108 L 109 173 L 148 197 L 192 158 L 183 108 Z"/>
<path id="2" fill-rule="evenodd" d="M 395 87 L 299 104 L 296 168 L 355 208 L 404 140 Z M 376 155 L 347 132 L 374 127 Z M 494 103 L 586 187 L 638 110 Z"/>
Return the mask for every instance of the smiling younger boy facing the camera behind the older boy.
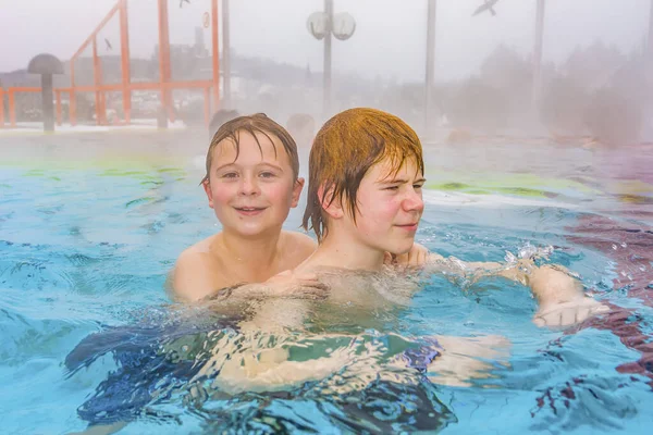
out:
<path id="1" fill-rule="evenodd" d="M 262 113 L 222 124 L 201 185 L 222 231 L 186 249 L 172 273 L 176 299 L 195 301 L 236 283 L 258 283 L 296 268 L 316 249 L 282 226 L 304 186 L 297 146 Z"/>

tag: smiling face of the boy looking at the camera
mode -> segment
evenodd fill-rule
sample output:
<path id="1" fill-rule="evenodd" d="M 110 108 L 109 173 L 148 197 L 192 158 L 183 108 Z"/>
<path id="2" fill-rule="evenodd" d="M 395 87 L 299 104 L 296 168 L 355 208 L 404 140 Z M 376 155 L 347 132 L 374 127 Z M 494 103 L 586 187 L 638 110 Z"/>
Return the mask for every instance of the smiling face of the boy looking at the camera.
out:
<path id="1" fill-rule="evenodd" d="M 304 179 L 295 179 L 291 159 L 273 134 L 236 132 L 212 150 L 204 187 L 225 232 L 242 237 L 276 236 L 297 206 Z"/>

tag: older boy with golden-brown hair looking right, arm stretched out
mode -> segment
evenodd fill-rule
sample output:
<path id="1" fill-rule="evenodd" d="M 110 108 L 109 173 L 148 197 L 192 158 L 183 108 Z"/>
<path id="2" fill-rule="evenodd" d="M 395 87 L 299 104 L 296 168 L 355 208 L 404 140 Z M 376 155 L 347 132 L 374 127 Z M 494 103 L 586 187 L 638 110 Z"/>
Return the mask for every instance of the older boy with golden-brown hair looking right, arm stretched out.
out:
<path id="1" fill-rule="evenodd" d="M 405 254 L 423 212 L 424 164 L 416 133 L 401 119 L 374 109 L 352 109 L 318 133 L 310 154 L 304 227 L 317 236 L 317 251 L 297 273 L 319 268 L 380 270 L 384 252 Z M 528 285 L 540 302 L 535 323 L 581 322 L 600 304 L 559 266 L 463 262 L 429 253 L 428 272 L 498 275 Z"/>

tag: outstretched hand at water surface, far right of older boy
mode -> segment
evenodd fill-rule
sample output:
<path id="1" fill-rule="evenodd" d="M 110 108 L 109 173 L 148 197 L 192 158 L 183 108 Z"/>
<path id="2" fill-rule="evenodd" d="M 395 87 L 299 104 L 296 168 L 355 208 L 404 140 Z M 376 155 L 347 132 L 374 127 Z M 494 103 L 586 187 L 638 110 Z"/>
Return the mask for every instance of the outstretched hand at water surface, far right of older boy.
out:
<path id="1" fill-rule="evenodd" d="M 590 297 L 569 302 L 554 303 L 542 307 L 534 315 L 533 323 L 538 326 L 571 326 L 581 323 L 595 314 L 603 314 L 609 308 Z"/>

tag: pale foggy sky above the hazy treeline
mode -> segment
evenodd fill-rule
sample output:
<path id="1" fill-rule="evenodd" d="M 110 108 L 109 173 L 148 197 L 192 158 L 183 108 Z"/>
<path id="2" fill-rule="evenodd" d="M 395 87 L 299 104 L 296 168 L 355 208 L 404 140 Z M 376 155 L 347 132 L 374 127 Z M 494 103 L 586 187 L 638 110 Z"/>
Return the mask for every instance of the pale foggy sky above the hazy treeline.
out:
<path id="1" fill-rule="evenodd" d="M 465 77 L 476 72 L 497 45 L 523 54 L 534 41 L 535 0 L 501 0 L 497 16 L 471 17 L 482 0 L 439 0 L 436 79 Z M 26 67 L 39 52 L 67 60 L 102 20 L 115 0 L 0 0 L 0 71 Z M 133 57 L 149 57 L 157 44 L 156 0 L 130 0 Z M 322 44 L 306 29 L 306 18 L 321 10 L 321 0 L 231 0 L 233 50 L 243 55 L 272 58 L 311 71 L 322 69 Z M 549 0 L 544 61 L 560 62 L 577 46 L 600 39 L 624 51 L 641 48 L 648 33 L 651 0 Z M 210 11 L 209 0 L 192 0 L 178 8 L 170 0 L 171 44 L 193 44 L 195 27 Z M 426 51 L 426 0 L 335 0 L 335 12 L 352 13 L 354 37 L 334 40 L 335 71 L 366 77 L 422 80 Z M 204 30 L 207 47 L 210 35 Z M 103 38 L 120 53 L 118 20 Z M 90 50 L 87 50 L 90 53 Z"/>

